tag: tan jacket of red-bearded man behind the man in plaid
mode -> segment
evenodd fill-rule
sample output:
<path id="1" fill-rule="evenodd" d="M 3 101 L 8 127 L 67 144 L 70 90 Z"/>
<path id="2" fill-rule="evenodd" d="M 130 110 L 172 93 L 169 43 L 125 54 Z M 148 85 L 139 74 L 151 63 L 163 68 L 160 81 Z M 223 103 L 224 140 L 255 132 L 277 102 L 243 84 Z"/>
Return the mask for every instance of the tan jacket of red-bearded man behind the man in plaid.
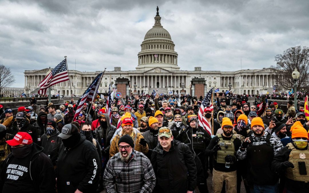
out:
<path id="1" fill-rule="evenodd" d="M 139 144 L 139 141 L 141 140 L 141 138 L 144 138 L 144 137 L 142 136 L 141 133 L 137 133 L 134 129 L 133 129 L 133 133 L 134 133 L 134 135 L 133 135 L 134 150 L 146 154 L 148 152 L 148 145 L 146 145 L 146 147 L 143 147 L 141 144 Z M 113 138 L 112 143 L 111 143 L 111 147 L 109 149 L 109 157 L 110 158 L 113 157 L 116 153 L 119 152 L 118 141 L 119 141 L 121 136 L 122 136 L 122 132 L 120 131 Z"/>

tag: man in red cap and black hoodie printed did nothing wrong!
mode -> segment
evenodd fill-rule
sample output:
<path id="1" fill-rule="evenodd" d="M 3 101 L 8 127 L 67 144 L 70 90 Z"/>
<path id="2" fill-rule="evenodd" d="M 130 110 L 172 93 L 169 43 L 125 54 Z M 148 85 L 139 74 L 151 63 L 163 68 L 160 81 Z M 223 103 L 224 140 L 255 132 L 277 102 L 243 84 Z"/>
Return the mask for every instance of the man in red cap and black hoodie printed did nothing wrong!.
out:
<path id="1" fill-rule="evenodd" d="M 55 192 L 56 176 L 49 157 L 43 148 L 32 141 L 26 132 L 18 132 L 12 140 L 12 153 L 3 162 L 0 173 L 0 191 L 11 192 Z"/>

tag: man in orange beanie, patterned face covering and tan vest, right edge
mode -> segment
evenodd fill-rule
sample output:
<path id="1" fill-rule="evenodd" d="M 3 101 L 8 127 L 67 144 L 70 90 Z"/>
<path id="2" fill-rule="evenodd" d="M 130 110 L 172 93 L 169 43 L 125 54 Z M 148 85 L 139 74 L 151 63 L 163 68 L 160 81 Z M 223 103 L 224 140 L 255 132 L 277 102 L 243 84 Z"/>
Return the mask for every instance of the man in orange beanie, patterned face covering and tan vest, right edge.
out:
<path id="1" fill-rule="evenodd" d="M 308 133 L 300 121 L 291 128 L 292 143 L 275 155 L 272 168 L 285 176 L 286 192 L 305 193 L 309 190 Z"/>

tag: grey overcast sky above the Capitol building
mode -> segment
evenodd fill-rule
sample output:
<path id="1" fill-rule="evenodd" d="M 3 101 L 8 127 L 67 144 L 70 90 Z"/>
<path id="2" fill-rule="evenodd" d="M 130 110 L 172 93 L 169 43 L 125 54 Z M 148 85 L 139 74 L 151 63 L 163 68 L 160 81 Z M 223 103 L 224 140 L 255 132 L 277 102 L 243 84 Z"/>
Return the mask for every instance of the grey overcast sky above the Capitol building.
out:
<path id="1" fill-rule="evenodd" d="M 182 70 L 235 71 L 275 65 L 276 54 L 309 46 L 308 0 L 0 1 L 0 64 L 15 87 L 24 70 L 135 70 L 140 44 L 154 25 L 156 6 Z"/>

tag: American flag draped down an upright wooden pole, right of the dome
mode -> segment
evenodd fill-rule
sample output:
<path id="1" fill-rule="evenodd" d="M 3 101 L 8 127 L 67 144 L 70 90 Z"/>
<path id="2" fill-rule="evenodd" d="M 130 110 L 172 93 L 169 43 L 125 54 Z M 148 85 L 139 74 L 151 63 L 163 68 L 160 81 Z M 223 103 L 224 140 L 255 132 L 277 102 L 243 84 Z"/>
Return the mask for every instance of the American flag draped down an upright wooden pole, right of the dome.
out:
<path id="1" fill-rule="evenodd" d="M 213 94 L 213 91 L 214 91 L 214 88 L 208 91 L 198 111 L 198 120 L 199 120 L 198 125 L 204 128 L 208 132 L 209 135 L 212 135 L 212 128 L 208 124 L 208 121 L 206 120 L 205 116 L 203 116 L 203 113 L 204 113 L 205 108 L 211 108 L 212 111 L 214 110 L 214 106 L 212 105 L 212 101 L 211 101 L 211 96 Z"/>

